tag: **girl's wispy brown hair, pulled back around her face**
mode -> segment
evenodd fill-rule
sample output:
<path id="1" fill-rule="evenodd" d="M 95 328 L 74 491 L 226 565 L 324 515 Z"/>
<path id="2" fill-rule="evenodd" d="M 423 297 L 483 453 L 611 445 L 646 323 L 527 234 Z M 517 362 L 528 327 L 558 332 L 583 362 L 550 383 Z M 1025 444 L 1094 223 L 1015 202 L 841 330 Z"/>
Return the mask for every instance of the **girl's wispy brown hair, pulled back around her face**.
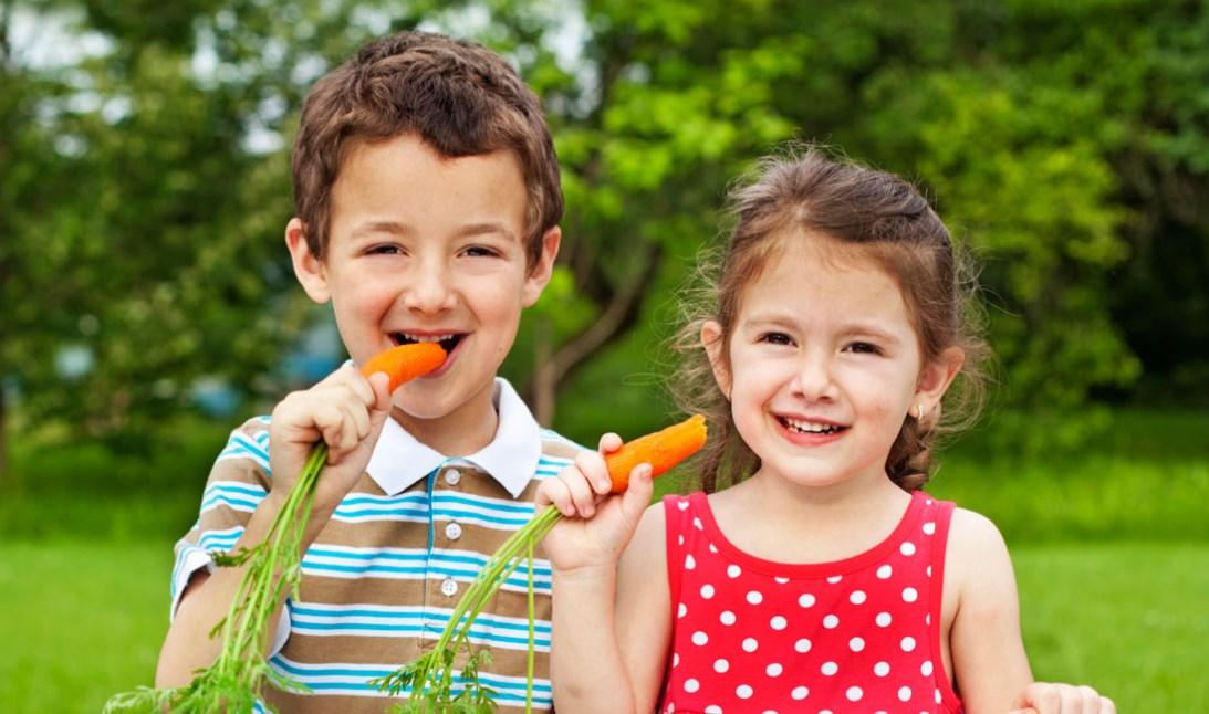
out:
<path id="1" fill-rule="evenodd" d="M 701 326 L 717 320 L 721 359 L 729 360 L 745 290 L 787 240 L 817 240 L 844 257 L 872 260 L 893 277 L 915 323 L 925 364 L 950 347 L 965 352 L 945 408 L 924 419 L 908 417 L 886 459 L 886 474 L 895 483 L 906 490 L 921 488 L 937 437 L 972 424 L 984 401 L 989 352 L 968 257 L 909 182 L 828 158 L 812 146 L 759 162 L 754 179 L 731 190 L 729 207 L 734 228 L 723 245 L 704 254 L 699 272 L 704 288 L 686 301 L 688 320 L 677 337 L 684 359 L 673 377 L 675 396 L 712 423 L 701 457 L 701 488 L 717 490 L 759 468 L 713 378 L 700 342 Z M 722 367 L 729 371 L 731 365 L 724 361 Z"/>

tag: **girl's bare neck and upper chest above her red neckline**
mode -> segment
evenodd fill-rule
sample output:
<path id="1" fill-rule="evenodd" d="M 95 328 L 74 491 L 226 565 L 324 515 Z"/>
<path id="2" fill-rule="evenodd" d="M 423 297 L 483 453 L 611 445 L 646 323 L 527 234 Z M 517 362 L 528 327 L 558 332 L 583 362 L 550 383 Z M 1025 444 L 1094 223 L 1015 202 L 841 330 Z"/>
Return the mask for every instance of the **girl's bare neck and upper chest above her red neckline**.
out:
<path id="1" fill-rule="evenodd" d="M 797 486 L 757 472 L 710 497 L 718 527 L 739 548 L 781 563 L 840 561 L 889 536 L 910 494 L 889 477 L 828 487 Z"/>

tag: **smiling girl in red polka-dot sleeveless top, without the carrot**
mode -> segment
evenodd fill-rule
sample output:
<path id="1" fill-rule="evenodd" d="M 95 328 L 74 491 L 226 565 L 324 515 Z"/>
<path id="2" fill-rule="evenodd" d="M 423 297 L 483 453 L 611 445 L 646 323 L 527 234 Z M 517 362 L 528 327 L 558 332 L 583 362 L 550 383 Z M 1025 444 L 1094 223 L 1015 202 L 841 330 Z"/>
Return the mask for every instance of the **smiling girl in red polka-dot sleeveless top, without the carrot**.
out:
<path id="1" fill-rule="evenodd" d="M 643 465 L 601 500 L 612 434 L 539 492 L 582 517 L 545 540 L 555 706 L 1112 712 L 1032 683 L 1002 538 L 921 490 L 985 353 L 948 230 L 907 182 L 815 150 L 762 169 L 688 327 L 708 495 L 647 509 Z"/>

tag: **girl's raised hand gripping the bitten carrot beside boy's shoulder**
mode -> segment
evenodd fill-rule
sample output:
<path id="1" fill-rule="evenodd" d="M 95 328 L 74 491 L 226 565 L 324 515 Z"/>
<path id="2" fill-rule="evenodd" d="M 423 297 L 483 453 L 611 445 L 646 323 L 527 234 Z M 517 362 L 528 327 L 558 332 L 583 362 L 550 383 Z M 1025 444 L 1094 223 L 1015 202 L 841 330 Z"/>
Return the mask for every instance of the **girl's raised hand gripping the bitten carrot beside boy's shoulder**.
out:
<path id="1" fill-rule="evenodd" d="M 566 516 L 543 540 L 554 569 L 612 568 L 634 536 L 650 503 L 652 469 L 650 464 L 635 466 L 626 492 L 609 495 L 613 483 L 603 454 L 619 448 L 621 437 L 606 434 L 600 451 L 580 452 L 573 464 L 538 487 L 538 510 L 549 505 Z"/>

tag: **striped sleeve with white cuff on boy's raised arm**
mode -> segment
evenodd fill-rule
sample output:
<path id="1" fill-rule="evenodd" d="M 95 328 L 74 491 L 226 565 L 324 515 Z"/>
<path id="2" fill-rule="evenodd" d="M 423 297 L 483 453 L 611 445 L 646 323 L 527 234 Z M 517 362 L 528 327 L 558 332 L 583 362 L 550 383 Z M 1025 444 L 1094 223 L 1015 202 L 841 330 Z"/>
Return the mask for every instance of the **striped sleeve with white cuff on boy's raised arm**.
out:
<path id="1" fill-rule="evenodd" d="M 256 417 L 231 433 L 206 481 L 197 522 L 177 541 L 169 617 L 175 616 L 180 596 L 193 574 L 202 568 L 214 571 L 210 552 L 231 550 L 243 535 L 251 513 L 268 494 L 271 477 L 268 417 Z M 288 610 L 282 608 L 273 652 L 289 637 Z"/>

